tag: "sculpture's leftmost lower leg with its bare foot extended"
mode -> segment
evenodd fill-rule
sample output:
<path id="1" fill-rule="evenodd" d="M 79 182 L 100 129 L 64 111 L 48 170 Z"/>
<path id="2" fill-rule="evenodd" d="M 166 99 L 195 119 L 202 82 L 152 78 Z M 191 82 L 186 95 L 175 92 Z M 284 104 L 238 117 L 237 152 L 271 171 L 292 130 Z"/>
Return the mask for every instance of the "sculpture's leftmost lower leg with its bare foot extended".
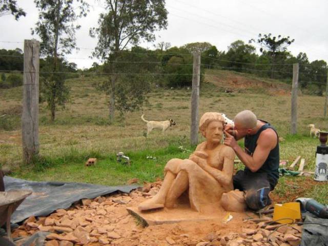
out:
<path id="1" fill-rule="evenodd" d="M 162 186 L 158 193 L 151 199 L 140 203 L 138 206 L 139 210 L 151 210 L 151 209 L 161 209 L 164 208 L 165 198 L 170 190 L 172 183 L 175 179 L 175 175 L 168 171 L 163 180 Z"/>

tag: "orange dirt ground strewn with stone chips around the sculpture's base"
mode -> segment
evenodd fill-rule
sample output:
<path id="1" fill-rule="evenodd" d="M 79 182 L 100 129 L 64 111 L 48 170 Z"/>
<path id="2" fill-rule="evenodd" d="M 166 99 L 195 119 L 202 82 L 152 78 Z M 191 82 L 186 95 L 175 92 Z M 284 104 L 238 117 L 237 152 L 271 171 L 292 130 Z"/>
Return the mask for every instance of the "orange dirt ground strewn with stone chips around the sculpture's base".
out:
<path id="1" fill-rule="evenodd" d="M 18 246 L 25 241 L 24 238 L 37 231 L 51 232 L 47 236 L 46 246 L 287 246 L 298 245 L 300 242 L 300 227 L 270 228 L 270 217 L 262 217 L 268 224 L 255 223 L 249 219 L 258 216 L 250 212 L 231 213 L 233 218 L 228 222 L 220 219 L 144 227 L 144 222 L 130 215 L 126 208 L 138 206 L 140 202 L 155 195 L 159 188 L 160 181 L 157 181 L 130 194 L 117 193 L 93 200 L 83 199 L 70 209 L 58 209 L 48 217 L 28 218 L 12 236 L 23 237 L 16 242 Z"/>

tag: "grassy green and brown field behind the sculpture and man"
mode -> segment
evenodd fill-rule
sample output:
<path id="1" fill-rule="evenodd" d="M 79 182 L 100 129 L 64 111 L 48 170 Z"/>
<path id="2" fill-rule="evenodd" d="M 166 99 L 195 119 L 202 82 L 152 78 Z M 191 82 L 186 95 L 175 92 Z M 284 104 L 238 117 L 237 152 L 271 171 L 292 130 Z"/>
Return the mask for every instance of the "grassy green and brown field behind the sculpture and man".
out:
<path id="1" fill-rule="evenodd" d="M 300 95 L 298 98 L 298 134 L 290 131 L 289 86 L 276 80 L 262 80 L 240 73 L 206 73 L 200 89 L 200 114 L 207 111 L 226 113 L 229 117 L 250 109 L 259 119 L 274 125 L 281 137 L 280 158 L 291 163 L 298 155 L 305 158 L 304 170 L 314 171 L 318 139 L 309 137 L 308 124 L 327 130 L 323 116 L 324 97 Z M 142 111 L 128 113 L 125 119 L 108 123 L 108 98 L 92 87 L 101 77 L 68 80 L 71 100 L 65 110 L 56 113 L 50 123 L 46 104 L 40 104 L 40 158 L 34 165 L 22 165 L 22 136 L 20 113 L 22 87 L 0 90 L 0 164 L 13 171 L 10 175 L 30 180 L 92 182 L 103 185 L 122 185 L 131 178 L 139 183 L 162 177 L 166 162 L 188 157 L 190 90 L 153 88 L 149 103 Z M 237 80 L 237 83 L 236 83 Z M 250 86 L 252 83 L 254 86 Z M 238 84 L 239 83 L 239 84 Z M 224 93 L 234 85 L 233 93 Z M 252 84 L 251 84 L 252 85 Z M 274 88 L 274 89 L 272 89 Z M 165 120 L 173 118 L 177 125 L 167 132 L 153 131 L 148 138 L 146 125 L 140 119 Z M 199 141 L 202 138 L 199 136 Z M 123 151 L 132 159 L 131 166 L 116 161 L 116 153 Z M 147 158 L 156 157 L 156 159 Z M 86 168 L 85 161 L 97 157 L 94 167 Z M 238 168 L 241 168 L 239 166 Z M 328 203 L 328 185 L 311 177 L 282 177 L 273 196 L 277 201 L 290 201 L 297 196 L 310 196 Z"/>

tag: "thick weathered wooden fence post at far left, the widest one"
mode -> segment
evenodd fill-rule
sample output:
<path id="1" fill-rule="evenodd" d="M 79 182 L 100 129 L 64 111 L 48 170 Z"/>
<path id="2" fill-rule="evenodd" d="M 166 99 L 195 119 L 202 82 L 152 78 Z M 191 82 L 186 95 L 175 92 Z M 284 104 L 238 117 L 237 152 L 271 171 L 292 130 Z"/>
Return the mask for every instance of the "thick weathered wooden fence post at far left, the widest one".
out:
<path id="1" fill-rule="evenodd" d="M 24 40 L 22 143 L 25 163 L 31 162 L 39 151 L 39 50 L 37 40 Z"/>

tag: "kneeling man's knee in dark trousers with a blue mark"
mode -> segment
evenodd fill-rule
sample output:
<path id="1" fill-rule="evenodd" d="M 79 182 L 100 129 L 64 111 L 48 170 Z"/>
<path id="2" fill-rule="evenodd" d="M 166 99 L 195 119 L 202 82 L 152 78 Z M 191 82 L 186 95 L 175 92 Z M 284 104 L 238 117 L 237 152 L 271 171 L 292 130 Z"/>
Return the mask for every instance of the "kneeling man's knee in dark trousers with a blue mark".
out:
<path id="1" fill-rule="evenodd" d="M 247 206 L 252 210 L 259 210 L 271 204 L 269 197 L 270 187 L 258 190 L 248 190 L 245 195 Z"/>

